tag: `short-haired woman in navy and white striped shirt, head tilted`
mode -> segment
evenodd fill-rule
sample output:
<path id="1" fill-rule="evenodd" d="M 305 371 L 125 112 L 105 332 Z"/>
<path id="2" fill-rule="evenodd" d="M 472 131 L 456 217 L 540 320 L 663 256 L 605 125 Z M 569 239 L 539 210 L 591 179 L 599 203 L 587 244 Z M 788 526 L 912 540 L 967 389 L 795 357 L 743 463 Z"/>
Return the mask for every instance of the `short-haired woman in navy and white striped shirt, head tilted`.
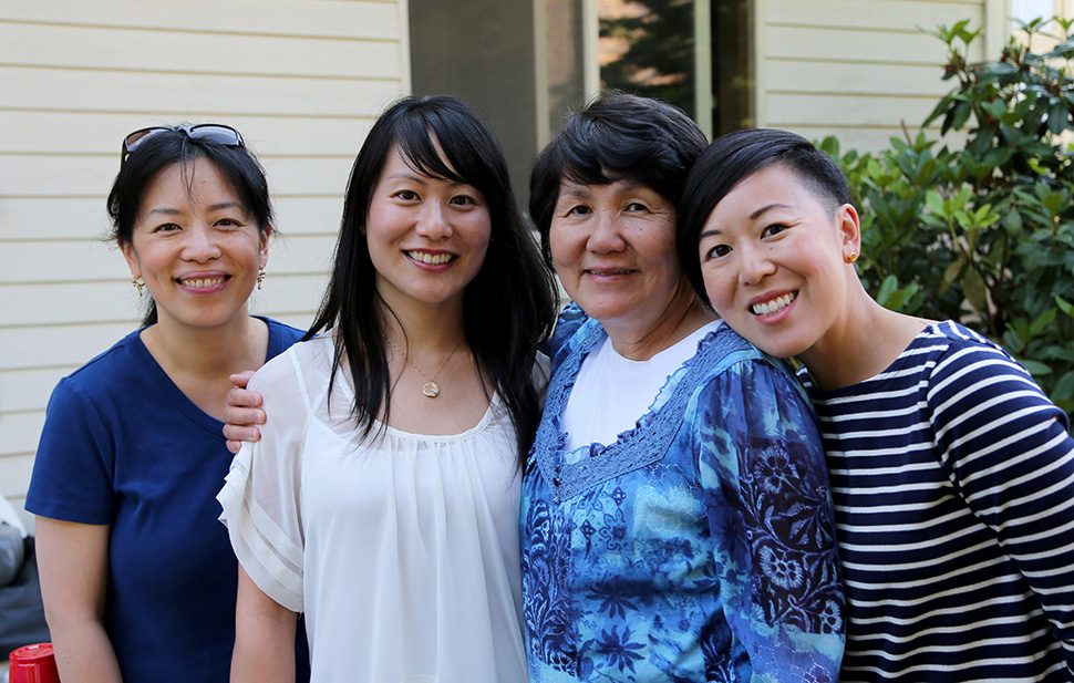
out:
<path id="1" fill-rule="evenodd" d="M 680 260 L 762 350 L 795 356 L 832 472 L 844 681 L 1074 679 L 1074 439 L 1002 349 L 879 306 L 846 178 L 793 133 L 694 166 Z"/>

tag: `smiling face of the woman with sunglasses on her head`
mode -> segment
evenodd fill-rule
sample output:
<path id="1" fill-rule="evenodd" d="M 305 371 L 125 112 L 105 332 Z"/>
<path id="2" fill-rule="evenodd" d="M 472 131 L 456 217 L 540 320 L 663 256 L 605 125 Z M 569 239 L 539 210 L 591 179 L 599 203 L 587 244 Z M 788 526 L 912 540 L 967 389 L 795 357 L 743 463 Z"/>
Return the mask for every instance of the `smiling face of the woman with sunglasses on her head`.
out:
<path id="1" fill-rule="evenodd" d="M 218 327 L 246 317 L 257 271 L 268 262 L 268 234 L 216 165 L 196 158 L 148 184 L 121 249 L 161 323 Z"/>

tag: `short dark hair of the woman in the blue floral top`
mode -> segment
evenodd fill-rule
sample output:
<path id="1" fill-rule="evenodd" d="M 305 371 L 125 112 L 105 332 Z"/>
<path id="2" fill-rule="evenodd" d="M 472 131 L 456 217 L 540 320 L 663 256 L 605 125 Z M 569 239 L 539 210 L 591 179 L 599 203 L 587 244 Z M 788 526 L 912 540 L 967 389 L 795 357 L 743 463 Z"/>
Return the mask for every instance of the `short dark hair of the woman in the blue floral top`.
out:
<path id="1" fill-rule="evenodd" d="M 540 232 L 545 261 L 551 263 L 548 232 L 560 183 L 634 180 L 678 207 L 686 174 L 706 144 L 682 110 L 639 95 L 603 93 L 568 114 L 529 179 L 529 215 Z"/>

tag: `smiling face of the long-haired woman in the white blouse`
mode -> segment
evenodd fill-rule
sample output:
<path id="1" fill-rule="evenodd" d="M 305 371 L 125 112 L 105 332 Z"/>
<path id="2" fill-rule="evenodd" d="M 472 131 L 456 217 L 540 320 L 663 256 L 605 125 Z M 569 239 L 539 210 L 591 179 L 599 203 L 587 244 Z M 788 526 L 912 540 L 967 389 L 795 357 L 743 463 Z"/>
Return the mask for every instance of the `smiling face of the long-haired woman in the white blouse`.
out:
<path id="1" fill-rule="evenodd" d="M 462 306 L 490 235 L 488 205 L 477 188 L 419 173 L 391 151 L 365 221 L 376 290 L 391 308 Z"/>

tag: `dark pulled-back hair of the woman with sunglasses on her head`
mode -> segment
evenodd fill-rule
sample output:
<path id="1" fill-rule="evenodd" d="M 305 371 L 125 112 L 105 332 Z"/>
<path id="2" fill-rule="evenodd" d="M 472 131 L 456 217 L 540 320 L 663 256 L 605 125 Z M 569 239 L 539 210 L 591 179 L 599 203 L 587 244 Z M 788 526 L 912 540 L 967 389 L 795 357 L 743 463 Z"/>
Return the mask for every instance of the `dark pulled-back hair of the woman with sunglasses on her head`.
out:
<path id="1" fill-rule="evenodd" d="M 205 137 L 190 137 L 182 127 L 175 127 L 144 137 L 137 149 L 121 164 L 107 199 L 112 219 L 109 239 L 121 247 L 131 244 L 142 200 L 153 182 L 164 169 L 178 164 L 187 184 L 193 183 L 196 159 L 205 159 L 220 172 L 242 203 L 246 215 L 265 237 L 272 224 L 272 203 L 265 169 L 254 154 L 245 145 L 224 145 Z M 156 303 L 151 299 L 142 324 L 151 325 L 156 318 Z"/>

